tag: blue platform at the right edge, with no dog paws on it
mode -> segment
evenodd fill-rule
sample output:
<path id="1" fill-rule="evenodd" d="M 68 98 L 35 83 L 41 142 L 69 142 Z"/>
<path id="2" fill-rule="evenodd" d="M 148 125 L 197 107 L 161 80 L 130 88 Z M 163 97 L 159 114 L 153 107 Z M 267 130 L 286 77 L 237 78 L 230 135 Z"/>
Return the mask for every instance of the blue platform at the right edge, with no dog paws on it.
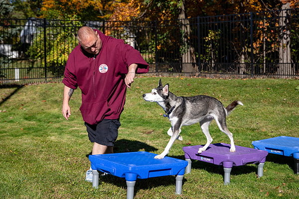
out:
<path id="1" fill-rule="evenodd" d="M 256 149 L 268 151 L 272 154 L 293 156 L 295 160 L 295 173 L 299 174 L 299 138 L 280 136 L 264 140 L 253 141 Z"/>

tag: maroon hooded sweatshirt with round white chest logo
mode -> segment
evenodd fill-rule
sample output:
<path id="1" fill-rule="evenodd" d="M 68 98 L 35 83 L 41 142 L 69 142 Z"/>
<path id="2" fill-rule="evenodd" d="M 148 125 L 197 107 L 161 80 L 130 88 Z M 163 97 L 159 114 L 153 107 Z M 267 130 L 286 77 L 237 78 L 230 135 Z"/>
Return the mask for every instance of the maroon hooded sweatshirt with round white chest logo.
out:
<path id="1" fill-rule="evenodd" d="M 69 55 L 62 81 L 71 89 L 81 89 L 80 110 L 89 124 L 120 117 L 126 99 L 125 77 L 131 64 L 138 64 L 136 73 L 149 72 L 148 63 L 132 46 L 96 31 L 102 40 L 99 54 L 94 56 L 80 44 L 76 46 Z"/>

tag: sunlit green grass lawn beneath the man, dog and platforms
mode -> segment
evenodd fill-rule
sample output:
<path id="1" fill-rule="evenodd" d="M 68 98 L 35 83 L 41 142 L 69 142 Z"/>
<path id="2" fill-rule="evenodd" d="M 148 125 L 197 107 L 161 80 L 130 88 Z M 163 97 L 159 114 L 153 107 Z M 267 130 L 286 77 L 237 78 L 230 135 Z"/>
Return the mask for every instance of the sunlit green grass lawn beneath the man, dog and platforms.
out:
<path id="1" fill-rule="evenodd" d="M 159 154 L 168 143 L 170 122 L 163 109 L 145 101 L 142 94 L 158 85 L 158 77 L 136 78 L 128 89 L 116 153 L 148 151 Z M 235 144 L 253 148 L 252 141 L 276 136 L 299 137 L 299 81 L 279 79 L 218 80 L 162 78 L 177 96 L 209 95 L 225 106 L 241 100 L 228 117 Z M 79 110 L 81 92 L 70 100 L 71 117 L 61 113 L 63 84 L 51 83 L 0 89 L 0 198 L 3 199 L 125 199 L 125 179 L 101 177 L 99 189 L 85 181 L 91 154 Z M 229 143 L 215 121 L 210 125 L 213 143 Z M 199 124 L 182 127 L 169 157 L 184 159 L 183 146 L 205 144 Z M 298 199 L 299 175 L 293 157 L 269 154 L 264 176 L 257 165 L 233 167 L 224 186 L 223 168 L 192 162 L 184 175 L 182 195 L 175 195 L 175 177 L 138 179 L 135 199 Z"/>

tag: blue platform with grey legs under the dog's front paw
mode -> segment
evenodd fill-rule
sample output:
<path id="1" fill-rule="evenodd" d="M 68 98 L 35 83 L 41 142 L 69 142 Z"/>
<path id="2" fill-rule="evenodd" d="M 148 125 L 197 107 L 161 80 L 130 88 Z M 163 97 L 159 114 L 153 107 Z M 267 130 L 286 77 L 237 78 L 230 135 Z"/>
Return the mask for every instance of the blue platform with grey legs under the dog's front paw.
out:
<path id="1" fill-rule="evenodd" d="M 175 175 L 175 193 L 181 194 L 182 179 L 188 162 L 170 157 L 154 159 L 156 155 L 149 152 L 90 155 L 89 160 L 93 170 L 93 187 L 97 188 L 99 185 L 98 171 L 126 178 L 128 186 L 127 199 L 133 199 L 137 178 L 147 179 Z"/>

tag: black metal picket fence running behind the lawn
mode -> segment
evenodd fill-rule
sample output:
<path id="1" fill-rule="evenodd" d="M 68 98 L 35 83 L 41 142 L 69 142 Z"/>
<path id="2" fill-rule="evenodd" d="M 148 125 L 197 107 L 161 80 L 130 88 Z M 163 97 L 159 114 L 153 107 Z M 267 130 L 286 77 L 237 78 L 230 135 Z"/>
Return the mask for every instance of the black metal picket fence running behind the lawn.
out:
<path id="1" fill-rule="evenodd" d="M 78 29 L 123 39 L 150 75 L 299 76 L 299 9 L 167 21 L 0 19 L 0 85 L 61 81 Z"/>

